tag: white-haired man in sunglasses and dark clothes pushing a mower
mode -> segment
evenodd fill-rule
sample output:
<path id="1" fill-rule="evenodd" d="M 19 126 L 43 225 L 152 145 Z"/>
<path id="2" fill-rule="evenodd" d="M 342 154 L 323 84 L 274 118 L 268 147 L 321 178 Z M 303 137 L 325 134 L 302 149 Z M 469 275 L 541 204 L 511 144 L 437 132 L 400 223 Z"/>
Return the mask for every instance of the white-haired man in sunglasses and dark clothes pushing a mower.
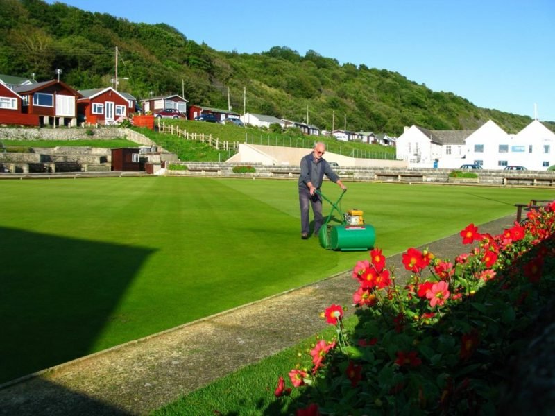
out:
<path id="1" fill-rule="evenodd" d="M 316 193 L 316 190 L 320 190 L 322 186 L 322 181 L 324 175 L 327 176 L 329 180 L 335 182 L 341 187 L 341 189 L 346 190 L 347 188 L 339 176 L 332 171 L 330 164 L 328 164 L 323 155 L 325 153 L 325 144 L 318 141 L 314 144 L 314 149 L 312 153 L 309 153 L 302 159 L 300 159 L 300 175 L 299 175 L 299 205 L 300 205 L 300 237 L 303 240 L 308 238 L 309 234 L 309 202 L 312 205 L 312 212 L 314 213 L 314 235 L 318 235 L 320 227 L 323 223 L 322 216 L 322 200 Z"/>

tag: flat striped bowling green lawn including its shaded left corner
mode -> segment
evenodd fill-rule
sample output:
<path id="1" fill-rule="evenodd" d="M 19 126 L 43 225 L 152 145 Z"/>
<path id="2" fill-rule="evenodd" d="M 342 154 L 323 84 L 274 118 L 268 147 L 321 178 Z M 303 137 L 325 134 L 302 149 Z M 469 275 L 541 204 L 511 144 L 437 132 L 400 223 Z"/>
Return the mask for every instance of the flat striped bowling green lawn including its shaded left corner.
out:
<path id="1" fill-rule="evenodd" d="M 386 255 L 513 214 L 546 189 L 348 183 Z M 339 187 L 323 190 L 335 200 Z M 296 182 L 0 181 L 0 382 L 351 268 L 300 239 Z M 325 212 L 330 207 L 325 207 Z M 307 259 L 317 259 L 306 267 Z"/>

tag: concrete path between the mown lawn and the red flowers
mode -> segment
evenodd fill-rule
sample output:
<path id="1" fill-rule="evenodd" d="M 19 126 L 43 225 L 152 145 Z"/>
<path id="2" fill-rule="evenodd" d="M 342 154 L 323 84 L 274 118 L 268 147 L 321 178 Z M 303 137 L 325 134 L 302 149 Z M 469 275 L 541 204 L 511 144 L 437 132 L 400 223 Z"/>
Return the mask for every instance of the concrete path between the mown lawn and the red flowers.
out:
<path id="1" fill-rule="evenodd" d="M 480 225 L 479 231 L 499 234 L 514 220 L 515 216 L 499 218 Z M 459 234 L 424 247 L 449 259 L 468 250 Z M 395 266 L 398 278 L 406 276 L 401 254 L 389 257 L 387 264 Z M 318 315 L 327 306 L 352 304 L 357 283 L 350 274 L 343 272 L 5 386 L 0 389 L 0 415 L 148 414 L 313 336 L 326 326 Z"/>

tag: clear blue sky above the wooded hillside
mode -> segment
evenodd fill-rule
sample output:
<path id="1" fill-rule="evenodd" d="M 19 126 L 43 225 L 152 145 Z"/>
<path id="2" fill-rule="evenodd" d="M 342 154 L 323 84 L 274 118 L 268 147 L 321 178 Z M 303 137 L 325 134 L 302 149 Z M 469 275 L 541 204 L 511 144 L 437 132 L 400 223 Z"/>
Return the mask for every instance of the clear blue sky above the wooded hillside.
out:
<path id="1" fill-rule="evenodd" d="M 47 1 L 54 3 L 54 1 Z M 217 51 L 288 46 L 395 71 L 478 107 L 555 121 L 554 0 L 67 0 Z"/>

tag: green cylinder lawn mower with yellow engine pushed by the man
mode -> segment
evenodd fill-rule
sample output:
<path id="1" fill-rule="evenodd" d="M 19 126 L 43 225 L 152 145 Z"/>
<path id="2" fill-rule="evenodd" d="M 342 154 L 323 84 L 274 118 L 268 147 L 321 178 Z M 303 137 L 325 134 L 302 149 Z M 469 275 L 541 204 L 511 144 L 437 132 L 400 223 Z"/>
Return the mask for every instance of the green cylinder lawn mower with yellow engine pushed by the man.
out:
<path id="1" fill-rule="evenodd" d="M 339 208 L 339 202 L 346 189 L 343 190 L 337 202 L 332 202 L 329 198 L 323 195 L 321 191 L 316 191 L 321 198 L 330 202 L 332 211 L 327 216 L 320 231 L 318 232 L 318 239 L 320 245 L 327 250 L 341 250 L 341 251 L 359 251 L 370 250 L 374 248 L 376 240 L 376 233 L 374 227 L 370 224 L 364 223 L 364 212 L 360 209 L 350 209 L 343 213 Z M 330 225 L 332 214 L 334 211 L 341 216 L 342 221 L 340 225 Z M 334 218 L 334 217 L 333 217 Z M 334 220 L 336 220 L 334 218 Z M 336 220 L 337 221 L 337 220 Z"/>

